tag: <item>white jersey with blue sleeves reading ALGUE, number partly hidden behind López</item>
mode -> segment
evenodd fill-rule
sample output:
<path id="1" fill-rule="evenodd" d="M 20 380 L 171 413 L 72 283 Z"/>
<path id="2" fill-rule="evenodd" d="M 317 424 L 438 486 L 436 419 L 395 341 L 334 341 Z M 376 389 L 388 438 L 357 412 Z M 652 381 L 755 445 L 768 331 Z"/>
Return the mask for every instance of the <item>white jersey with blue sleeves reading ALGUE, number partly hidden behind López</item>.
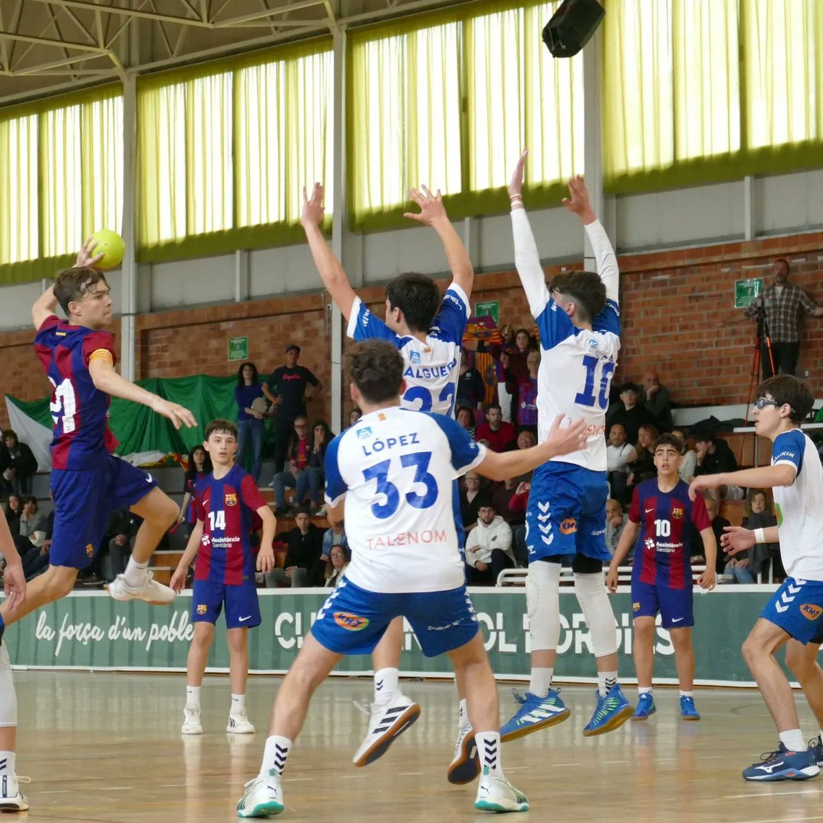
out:
<path id="1" fill-rule="evenodd" d="M 352 340 L 377 337 L 398 347 L 406 367 L 403 408 L 450 416 L 460 377 L 460 346 L 470 313 L 466 292 L 452 283 L 423 343 L 416 337 L 395 334 L 357 297 L 351 305 L 347 333 Z"/>

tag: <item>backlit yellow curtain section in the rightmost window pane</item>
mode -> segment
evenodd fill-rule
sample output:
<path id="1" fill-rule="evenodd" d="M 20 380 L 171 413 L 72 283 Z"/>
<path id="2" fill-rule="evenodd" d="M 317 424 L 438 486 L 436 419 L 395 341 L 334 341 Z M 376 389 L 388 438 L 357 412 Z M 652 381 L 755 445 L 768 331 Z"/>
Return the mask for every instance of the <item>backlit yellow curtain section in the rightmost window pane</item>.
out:
<path id="1" fill-rule="evenodd" d="M 744 0 L 746 137 L 783 146 L 823 137 L 820 0 Z"/>

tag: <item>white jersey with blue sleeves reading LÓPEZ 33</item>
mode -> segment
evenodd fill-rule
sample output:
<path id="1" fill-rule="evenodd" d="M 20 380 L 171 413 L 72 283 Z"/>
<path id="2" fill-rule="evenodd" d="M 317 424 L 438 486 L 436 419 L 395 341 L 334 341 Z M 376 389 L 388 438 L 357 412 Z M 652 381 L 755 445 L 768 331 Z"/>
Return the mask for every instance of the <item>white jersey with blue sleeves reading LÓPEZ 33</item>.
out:
<path id="1" fill-rule="evenodd" d="M 439 592 L 465 582 L 454 481 L 485 447 L 440 414 L 364 415 L 326 450 L 326 501 L 346 495 L 346 579 L 370 592 Z"/>

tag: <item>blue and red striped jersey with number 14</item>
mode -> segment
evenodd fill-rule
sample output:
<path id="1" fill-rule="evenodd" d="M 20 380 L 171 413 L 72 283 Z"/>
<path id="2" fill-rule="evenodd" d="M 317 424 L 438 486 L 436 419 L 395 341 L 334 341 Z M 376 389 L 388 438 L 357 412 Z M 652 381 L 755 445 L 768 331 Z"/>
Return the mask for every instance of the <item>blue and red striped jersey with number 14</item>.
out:
<path id="1" fill-rule="evenodd" d="M 194 579 L 239 586 L 254 579 L 252 532 L 257 510 L 266 505 L 254 478 L 235 465 L 225 477 L 198 477 L 194 510 L 203 536 L 194 563 Z"/>

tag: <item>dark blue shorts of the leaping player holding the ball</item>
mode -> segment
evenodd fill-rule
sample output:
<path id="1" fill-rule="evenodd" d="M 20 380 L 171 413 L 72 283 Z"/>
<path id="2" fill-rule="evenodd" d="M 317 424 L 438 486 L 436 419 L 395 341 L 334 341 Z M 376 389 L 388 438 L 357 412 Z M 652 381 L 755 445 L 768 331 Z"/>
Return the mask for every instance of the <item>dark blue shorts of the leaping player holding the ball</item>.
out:
<path id="1" fill-rule="evenodd" d="M 156 485 L 151 474 L 112 454 L 100 458 L 92 469 L 53 469 L 49 563 L 85 569 L 105 537 L 111 513 L 130 509 Z"/>

